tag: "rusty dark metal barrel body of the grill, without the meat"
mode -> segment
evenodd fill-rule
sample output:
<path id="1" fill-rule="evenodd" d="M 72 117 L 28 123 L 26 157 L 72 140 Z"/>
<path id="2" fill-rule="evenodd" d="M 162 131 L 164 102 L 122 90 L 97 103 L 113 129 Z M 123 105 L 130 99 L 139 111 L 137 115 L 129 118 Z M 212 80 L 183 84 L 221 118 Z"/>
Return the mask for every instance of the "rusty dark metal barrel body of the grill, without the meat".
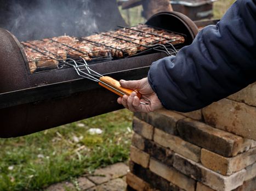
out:
<path id="1" fill-rule="evenodd" d="M 154 26 L 167 22 L 162 15 L 156 17 L 151 17 L 154 21 L 147 23 Z M 168 13 L 167 17 L 175 17 L 175 20 L 179 17 L 175 21 L 177 25 L 188 22 L 177 13 Z M 185 44 L 190 44 L 197 33 L 191 32 L 191 27 L 195 27 L 191 23 L 177 31 L 187 35 Z M 96 63 L 91 68 L 117 80 L 140 79 L 147 75 L 153 61 L 164 56 L 164 53 L 151 53 Z M 116 103 L 115 94 L 96 82 L 79 78 L 73 68 L 30 74 L 19 41 L 4 29 L 0 29 L 0 64 L 1 138 L 27 135 L 122 108 Z"/>

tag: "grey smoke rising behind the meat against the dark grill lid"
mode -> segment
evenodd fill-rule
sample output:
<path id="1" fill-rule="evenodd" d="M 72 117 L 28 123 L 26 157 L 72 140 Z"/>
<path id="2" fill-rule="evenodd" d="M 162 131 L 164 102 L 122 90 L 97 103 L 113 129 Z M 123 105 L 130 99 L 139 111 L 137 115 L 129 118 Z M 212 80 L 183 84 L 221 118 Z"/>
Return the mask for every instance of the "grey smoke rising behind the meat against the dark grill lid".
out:
<path id="1" fill-rule="evenodd" d="M 115 17 L 119 17 L 115 26 L 125 24 L 119 12 L 114 11 L 116 16 L 111 13 L 113 8 L 117 9 L 115 0 L 0 0 L 0 3 L 1 20 L 5 18 L 0 21 L 0 27 L 19 40 L 64 34 L 81 37 L 112 29 L 111 20 L 116 20 Z"/>

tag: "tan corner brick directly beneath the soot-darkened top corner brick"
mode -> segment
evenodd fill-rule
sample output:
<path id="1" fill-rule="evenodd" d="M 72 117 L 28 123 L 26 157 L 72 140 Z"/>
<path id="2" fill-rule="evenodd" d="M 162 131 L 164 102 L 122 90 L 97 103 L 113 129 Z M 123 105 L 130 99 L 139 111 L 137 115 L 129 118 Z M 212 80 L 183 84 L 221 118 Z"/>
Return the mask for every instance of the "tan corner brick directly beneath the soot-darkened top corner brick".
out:
<path id="1" fill-rule="evenodd" d="M 214 170 L 222 175 L 231 175 L 234 172 L 240 171 L 246 166 L 256 162 L 256 148 L 238 154 L 236 157 L 226 158 L 211 151 L 202 149 L 201 162 L 203 166 Z"/>

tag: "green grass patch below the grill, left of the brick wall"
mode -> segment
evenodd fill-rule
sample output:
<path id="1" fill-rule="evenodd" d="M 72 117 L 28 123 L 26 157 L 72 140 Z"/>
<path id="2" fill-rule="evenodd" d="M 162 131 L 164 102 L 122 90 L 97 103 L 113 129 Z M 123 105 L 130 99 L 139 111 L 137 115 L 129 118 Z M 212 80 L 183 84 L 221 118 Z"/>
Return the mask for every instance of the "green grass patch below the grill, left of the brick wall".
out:
<path id="1" fill-rule="evenodd" d="M 81 127 L 81 124 L 84 127 Z M 0 139 L 0 190 L 39 190 L 129 157 L 132 113 L 120 110 L 14 139 Z M 88 129 L 103 133 L 90 135 Z"/>

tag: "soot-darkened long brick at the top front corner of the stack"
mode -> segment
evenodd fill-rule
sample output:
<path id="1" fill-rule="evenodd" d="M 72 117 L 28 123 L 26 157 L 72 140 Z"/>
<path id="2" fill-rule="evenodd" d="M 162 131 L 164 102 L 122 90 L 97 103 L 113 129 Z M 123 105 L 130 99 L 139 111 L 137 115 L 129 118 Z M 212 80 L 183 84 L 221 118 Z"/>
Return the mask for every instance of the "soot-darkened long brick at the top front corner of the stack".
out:
<path id="1" fill-rule="evenodd" d="M 190 118 L 180 120 L 177 128 L 179 136 L 184 140 L 224 157 L 236 156 L 240 152 L 247 151 L 252 144 L 241 136 L 224 132 Z"/>

